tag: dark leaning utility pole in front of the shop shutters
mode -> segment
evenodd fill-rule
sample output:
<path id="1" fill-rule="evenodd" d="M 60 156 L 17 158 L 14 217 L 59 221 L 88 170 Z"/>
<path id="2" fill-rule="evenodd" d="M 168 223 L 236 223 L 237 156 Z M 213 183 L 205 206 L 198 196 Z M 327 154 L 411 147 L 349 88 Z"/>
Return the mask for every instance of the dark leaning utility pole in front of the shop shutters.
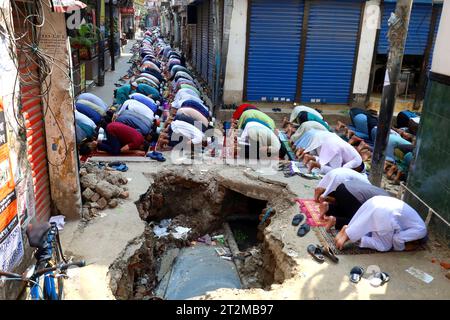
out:
<path id="1" fill-rule="evenodd" d="M 402 69 L 403 53 L 408 35 L 409 17 L 413 0 L 398 0 L 395 15 L 389 18 L 389 56 L 386 65 L 381 109 L 378 117 L 377 137 L 372 154 L 370 180 L 372 184 L 381 186 L 386 158 L 386 147 L 394 114 L 397 84 Z"/>

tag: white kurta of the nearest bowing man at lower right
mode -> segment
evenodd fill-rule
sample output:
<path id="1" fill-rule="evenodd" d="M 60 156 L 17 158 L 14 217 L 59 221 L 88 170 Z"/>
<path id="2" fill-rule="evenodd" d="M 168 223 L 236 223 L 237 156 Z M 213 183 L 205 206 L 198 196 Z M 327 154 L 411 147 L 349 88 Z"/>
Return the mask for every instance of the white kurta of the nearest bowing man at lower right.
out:
<path id="1" fill-rule="evenodd" d="M 397 198 L 377 196 L 367 200 L 348 224 L 352 242 L 378 251 L 405 249 L 405 242 L 427 235 L 425 222 L 407 203 Z"/>

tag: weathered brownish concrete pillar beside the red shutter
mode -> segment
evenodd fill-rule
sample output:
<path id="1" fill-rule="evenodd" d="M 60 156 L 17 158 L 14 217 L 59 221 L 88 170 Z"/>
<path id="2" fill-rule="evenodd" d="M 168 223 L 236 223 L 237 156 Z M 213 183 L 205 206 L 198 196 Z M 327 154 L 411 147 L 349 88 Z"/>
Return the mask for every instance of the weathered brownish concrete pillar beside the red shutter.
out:
<path id="1" fill-rule="evenodd" d="M 46 23 L 42 27 L 39 46 L 54 59 L 52 74 L 41 79 L 42 92 L 49 90 L 48 100 L 44 98 L 43 102 L 51 198 L 55 213 L 67 219 L 79 219 L 81 192 L 66 21 L 64 14 L 51 12 L 50 3 L 42 7 Z"/>

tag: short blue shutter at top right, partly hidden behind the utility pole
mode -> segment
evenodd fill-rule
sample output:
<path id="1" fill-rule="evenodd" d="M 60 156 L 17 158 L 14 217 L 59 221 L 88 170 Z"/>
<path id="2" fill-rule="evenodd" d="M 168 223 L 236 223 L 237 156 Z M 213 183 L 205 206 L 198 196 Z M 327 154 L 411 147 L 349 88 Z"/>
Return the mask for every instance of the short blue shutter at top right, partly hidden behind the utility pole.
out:
<path id="1" fill-rule="evenodd" d="M 389 52 L 388 19 L 395 12 L 395 3 L 385 3 L 381 21 L 378 53 Z M 431 23 L 431 4 L 414 3 L 409 20 L 408 37 L 406 38 L 405 54 L 423 55 L 427 46 Z"/>

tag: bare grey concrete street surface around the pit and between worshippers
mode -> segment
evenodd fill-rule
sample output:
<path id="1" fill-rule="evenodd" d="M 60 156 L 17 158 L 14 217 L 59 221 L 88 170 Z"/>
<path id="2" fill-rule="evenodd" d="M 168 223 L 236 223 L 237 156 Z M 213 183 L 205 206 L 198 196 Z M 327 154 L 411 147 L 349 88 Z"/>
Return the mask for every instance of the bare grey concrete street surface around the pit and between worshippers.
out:
<path id="1" fill-rule="evenodd" d="M 133 42 L 129 42 L 124 52 Z M 129 64 L 127 54 L 118 61 L 116 72 L 108 72 L 104 87 L 94 88 L 91 92 L 104 101 L 112 100 L 111 92 L 114 83 L 125 73 Z M 116 259 L 126 261 L 140 246 L 139 241 L 133 242 L 144 232 L 145 223 L 140 219 L 135 201 L 144 194 L 152 183 L 152 174 L 161 170 L 189 170 L 199 173 L 200 170 L 214 172 L 219 176 L 235 180 L 236 184 L 251 182 L 243 172 L 258 177 L 260 173 L 246 167 L 193 165 L 183 166 L 167 161 L 159 163 L 146 158 L 135 157 L 93 157 L 97 161 L 125 161 L 129 170 L 124 175 L 129 180 L 126 185 L 130 191 L 129 199 L 117 208 L 105 209 L 102 216 L 83 223 L 68 222 L 62 231 L 63 247 L 66 254 L 76 259 L 85 259 L 88 266 L 71 269 L 71 278 L 66 282 L 67 299 L 114 299 L 109 287 L 109 268 Z M 183 169 L 183 167 L 185 169 Z M 263 174 L 264 175 L 264 174 Z M 287 188 L 298 198 L 312 198 L 316 180 L 303 177 L 285 178 L 281 172 L 267 176 L 270 181 L 287 184 Z M 415 252 L 389 252 L 356 255 L 340 255 L 339 263 L 326 262 L 318 264 L 307 253 L 306 247 L 310 243 L 319 243 L 314 232 L 304 238 L 296 235 L 297 229 L 292 227 L 291 217 L 295 214 L 293 208 L 279 212 L 273 218 L 265 236 L 279 259 L 284 255 L 293 261 L 293 265 L 286 270 L 286 279 L 282 284 L 273 284 L 270 291 L 261 289 L 231 290 L 220 289 L 209 292 L 199 299 L 449 299 L 448 280 L 445 271 L 439 264 L 432 263 L 432 259 L 449 257 L 447 248 L 437 242 L 430 241 L 427 250 Z M 353 266 L 364 266 L 370 269 L 379 267 L 387 272 L 390 283 L 387 286 L 374 288 L 369 281 L 361 281 L 354 285 L 348 280 L 348 272 Z M 412 277 L 405 270 L 415 267 L 434 277 L 431 283 Z M 282 268 L 283 269 L 283 268 Z"/>

